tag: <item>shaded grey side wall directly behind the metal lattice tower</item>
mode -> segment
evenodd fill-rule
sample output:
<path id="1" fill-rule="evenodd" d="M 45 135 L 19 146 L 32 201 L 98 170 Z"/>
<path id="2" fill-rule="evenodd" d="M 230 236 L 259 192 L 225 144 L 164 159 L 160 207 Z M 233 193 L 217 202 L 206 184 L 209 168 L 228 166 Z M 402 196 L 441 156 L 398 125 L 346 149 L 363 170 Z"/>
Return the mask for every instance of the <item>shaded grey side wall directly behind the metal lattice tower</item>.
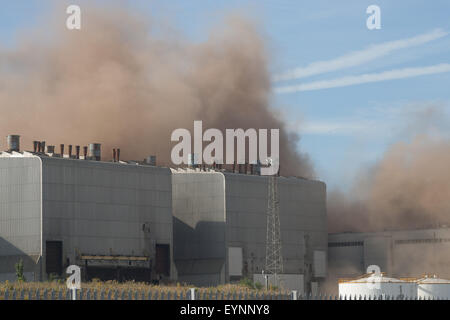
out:
<path id="1" fill-rule="evenodd" d="M 284 273 L 313 276 L 314 250 L 327 251 L 326 186 L 323 182 L 279 177 Z M 244 275 L 265 266 L 269 178 L 225 173 L 227 245 L 243 248 Z"/>

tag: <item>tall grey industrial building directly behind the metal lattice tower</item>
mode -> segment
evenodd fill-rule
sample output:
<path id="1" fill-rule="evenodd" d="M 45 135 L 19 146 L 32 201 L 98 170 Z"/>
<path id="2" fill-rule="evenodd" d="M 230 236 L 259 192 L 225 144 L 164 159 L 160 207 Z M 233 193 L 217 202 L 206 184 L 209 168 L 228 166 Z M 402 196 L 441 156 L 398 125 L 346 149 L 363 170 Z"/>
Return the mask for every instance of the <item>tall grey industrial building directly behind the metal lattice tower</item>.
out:
<path id="1" fill-rule="evenodd" d="M 323 182 L 278 177 L 286 288 L 309 292 L 325 280 Z M 217 285 L 258 279 L 265 268 L 269 177 L 172 170 L 174 262 L 179 281 Z M 280 284 L 279 284 L 280 285 Z"/>

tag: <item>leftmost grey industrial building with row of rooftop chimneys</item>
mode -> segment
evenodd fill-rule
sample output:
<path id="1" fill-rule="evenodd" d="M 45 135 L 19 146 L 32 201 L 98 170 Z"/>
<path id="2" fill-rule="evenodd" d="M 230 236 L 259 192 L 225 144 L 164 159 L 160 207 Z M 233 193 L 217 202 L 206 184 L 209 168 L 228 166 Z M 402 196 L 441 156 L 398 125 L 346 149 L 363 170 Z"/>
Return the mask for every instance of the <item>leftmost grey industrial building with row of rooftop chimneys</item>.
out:
<path id="1" fill-rule="evenodd" d="M 168 168 L 101 161 L 98 144 L 84 156 L 35 142 L 19 152 L 8 138 L 0 155 L 0 281 L 61 276 L 158 280 L 174 277 L 172 196 Z"/>

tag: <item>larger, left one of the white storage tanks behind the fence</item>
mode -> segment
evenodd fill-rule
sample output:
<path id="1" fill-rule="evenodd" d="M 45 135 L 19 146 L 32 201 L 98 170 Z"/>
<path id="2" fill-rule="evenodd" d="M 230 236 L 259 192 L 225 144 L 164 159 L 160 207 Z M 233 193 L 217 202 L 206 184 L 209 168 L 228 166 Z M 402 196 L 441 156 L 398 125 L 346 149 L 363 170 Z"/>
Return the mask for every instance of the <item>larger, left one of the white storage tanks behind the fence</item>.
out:
<path id="1" fill-rule="evenodd" d="M 383 275 L 365 275 L 353 280 L 339 281 L 339 295 L 342 299 L 397 299 L 417 297 L 417 284 L 413 281 L 385 277 Z"/>

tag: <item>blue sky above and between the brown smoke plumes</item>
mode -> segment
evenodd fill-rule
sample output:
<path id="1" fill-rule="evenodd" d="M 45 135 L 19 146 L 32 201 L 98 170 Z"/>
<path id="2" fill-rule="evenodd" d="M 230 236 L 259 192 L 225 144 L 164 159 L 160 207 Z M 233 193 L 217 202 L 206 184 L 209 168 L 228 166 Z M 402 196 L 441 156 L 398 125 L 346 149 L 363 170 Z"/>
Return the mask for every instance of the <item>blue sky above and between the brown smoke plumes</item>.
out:
<path id="1" fill-rule="evenodd" d="M 98 2 L 107 10 L 108 1 Z M 437 105 L 442 108 L 442 117 L 450 115 L 448 0 L 122 2 L 175 24 L 194 41 L 207 37 L 224 12 L 240 11 L 256 19 L 269 41 L 274 79 L 302 68 L 297 78 L 274 80 L 273 103 L 289 126 L 301 134 L 299 148 L 310 155 L 318 177 L 331 188 L 348 187 L 361 167 L 374 163 L 390 144 L 407 139 L 404 130 L 412 121 L 411 114 L 423 106 Z M 0 0 L 2 45 L 13 45 L 20 30 L 38 27 L 37 21 L 50 3 Z M 381 8 L 380 30 L 366 27 L 366 8 L 371 4 Z M 383 53 L 389 43 L 393 48 Z M 369 50 L 370 46 L 375 47 Z M 353 52 L 357 52 L 354 59 Z M 339 57 L 351 62 L 342 66 L 336 61 Z M 324 62 L 323 68 L 317 71 L 315 62 Z M 336 69 L 336 65 L 340 67 Z M 410 76 L 433 66 L 429 74 Z M 308 70 L 313 74 L 302 76 Z M 334 79 L 345 83 L 342 78 L 348 76 L 356 77 L 358 83 L 362 74 L 392 70 L 404 76 L 389 80 L 384 75 L 378 82 L 333 88 L 319 83 L 317 90 L 279 90 Z M 446 123 L 439 128 L 440 134 L 449 134 Z"/>

